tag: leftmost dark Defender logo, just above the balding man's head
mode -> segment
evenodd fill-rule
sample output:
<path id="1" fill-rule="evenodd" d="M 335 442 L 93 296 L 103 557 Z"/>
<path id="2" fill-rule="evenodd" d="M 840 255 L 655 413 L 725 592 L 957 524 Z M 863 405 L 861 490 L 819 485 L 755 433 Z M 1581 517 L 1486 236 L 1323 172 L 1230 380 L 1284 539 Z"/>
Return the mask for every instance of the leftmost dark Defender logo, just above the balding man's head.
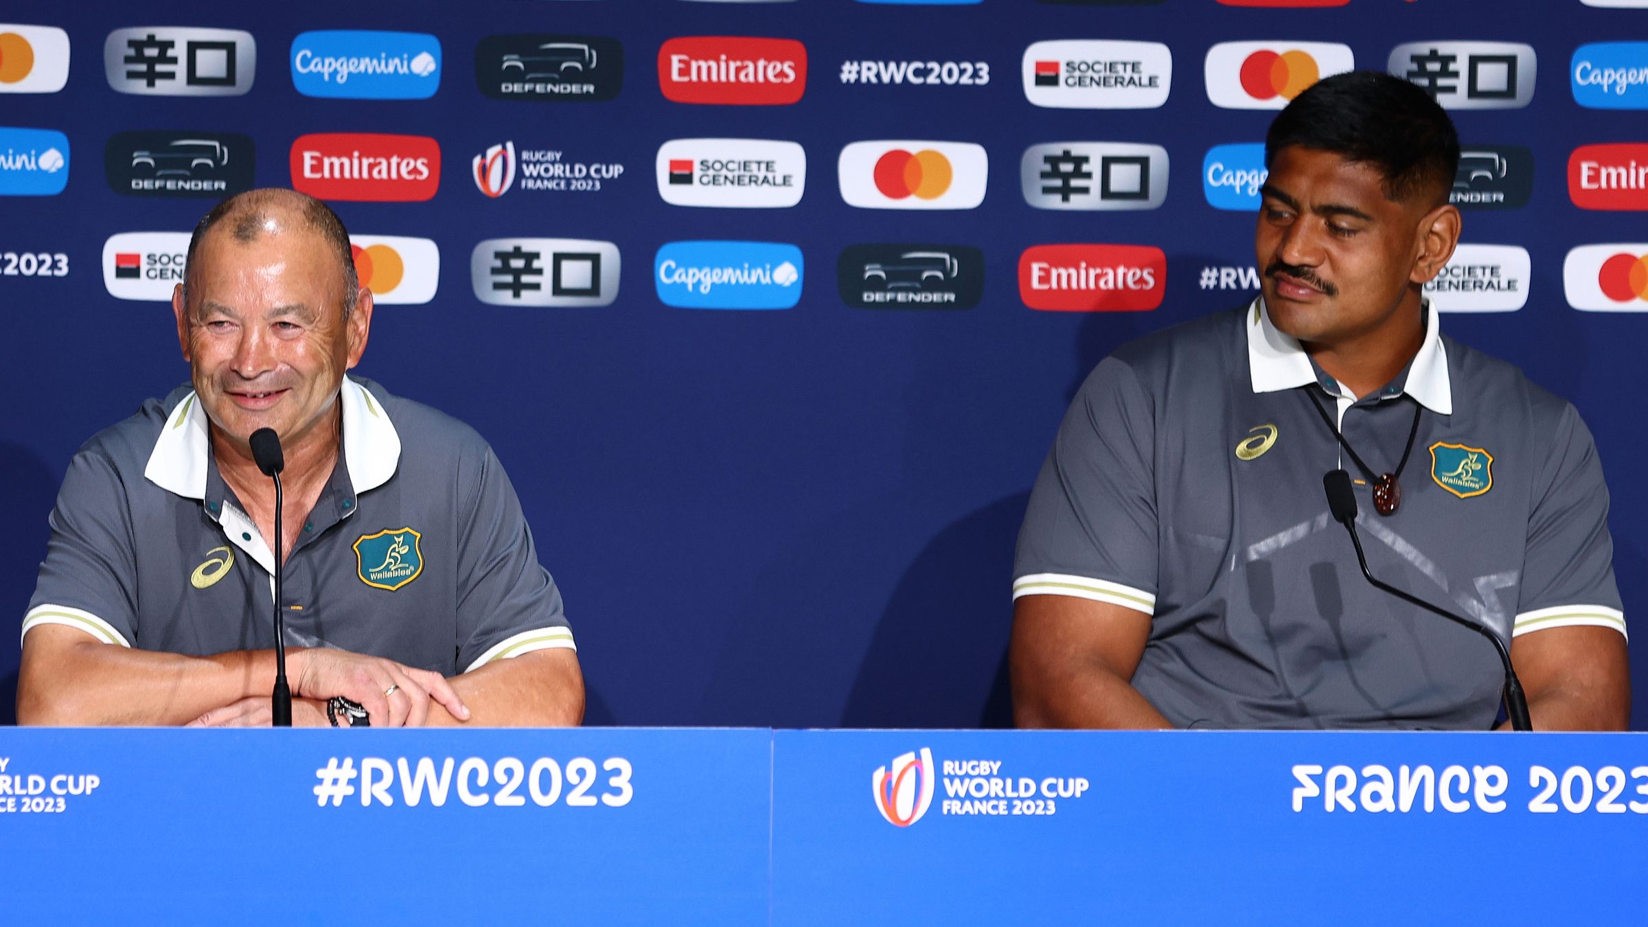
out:
<path id="1" fill-rule="evenodd" d="M 104 147 L 109 188 L 127 196 L 229 196 L 252 188 L 252 139 L 231 132 L 120 132 Z"/>

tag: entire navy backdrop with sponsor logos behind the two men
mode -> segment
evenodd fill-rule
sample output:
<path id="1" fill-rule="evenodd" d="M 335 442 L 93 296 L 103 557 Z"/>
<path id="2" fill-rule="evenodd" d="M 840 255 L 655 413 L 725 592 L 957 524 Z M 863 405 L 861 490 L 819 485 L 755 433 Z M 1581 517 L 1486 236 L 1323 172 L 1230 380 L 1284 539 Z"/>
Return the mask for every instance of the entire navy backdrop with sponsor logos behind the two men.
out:
<path id="1" fill-rule="evenodd" d="M 1485 8 L 13 3 L 0 612 L 74 450 L 186 378 L 188 231 L 297 185 L 379 290 L 359 373 L 509 467 L 592 722 L 1005 724 L 1014 538 L 1070 396 L 1248 299 L 1256 144 L 1355 64 L 1454 112 L 1444 328 L 1579 406 L 1636 615 L 1648 8 Z M 0 635 L 0 721 L 15 671 Z"/>

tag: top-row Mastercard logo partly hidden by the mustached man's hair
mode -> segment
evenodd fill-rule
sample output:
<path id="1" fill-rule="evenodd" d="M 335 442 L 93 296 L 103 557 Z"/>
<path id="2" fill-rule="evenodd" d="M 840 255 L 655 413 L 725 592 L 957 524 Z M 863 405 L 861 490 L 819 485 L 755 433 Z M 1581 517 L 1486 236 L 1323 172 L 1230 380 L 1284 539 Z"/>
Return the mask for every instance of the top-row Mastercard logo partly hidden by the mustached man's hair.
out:
<path id="1" fill-rule="evenodd" d="M 1330 74 L 1356 68 L 1348 45 L 1328 41 L 1221 41 L 1203 64 L 1208 101 L 1223 109 L 1282 109 Z"/>

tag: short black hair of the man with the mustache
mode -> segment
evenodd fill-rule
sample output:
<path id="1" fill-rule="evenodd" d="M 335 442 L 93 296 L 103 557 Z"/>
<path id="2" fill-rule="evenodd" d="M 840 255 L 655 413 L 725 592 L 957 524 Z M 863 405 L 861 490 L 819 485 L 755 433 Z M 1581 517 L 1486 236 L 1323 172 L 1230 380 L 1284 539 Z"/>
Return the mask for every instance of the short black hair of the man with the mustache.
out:
<path id="1" fill-rule="evenodd" d="M 1458 170 L 1458 132 L 1417 84 L 1379 71 L 1348 71 L 1294 97 L 1264 137 L 1264 167 L 1289 145 L 1373 165 L 1384 195 L 1447 201 Z"/>

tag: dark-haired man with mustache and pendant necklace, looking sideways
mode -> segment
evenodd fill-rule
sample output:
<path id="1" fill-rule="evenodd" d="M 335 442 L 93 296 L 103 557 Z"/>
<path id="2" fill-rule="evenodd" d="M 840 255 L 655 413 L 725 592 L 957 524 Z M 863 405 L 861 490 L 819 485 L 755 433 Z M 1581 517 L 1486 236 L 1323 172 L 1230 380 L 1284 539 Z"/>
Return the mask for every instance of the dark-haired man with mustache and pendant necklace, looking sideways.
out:
<path id="1" fill-rule="evenodd" d="M 1625 617 L 1590 432 L 1439 332 L 1458 137 L 1416 86 L 1327 78 L 1266 139 L 1259 297 L 1083 384 L 1014 567 L 1025 727 L 1488 729 L 1488 642 L 1369 586 L 1322 493 L 1356 478 L 1374 576 L 1491 630 L 1536 731 L 1623 729 Z"/>

